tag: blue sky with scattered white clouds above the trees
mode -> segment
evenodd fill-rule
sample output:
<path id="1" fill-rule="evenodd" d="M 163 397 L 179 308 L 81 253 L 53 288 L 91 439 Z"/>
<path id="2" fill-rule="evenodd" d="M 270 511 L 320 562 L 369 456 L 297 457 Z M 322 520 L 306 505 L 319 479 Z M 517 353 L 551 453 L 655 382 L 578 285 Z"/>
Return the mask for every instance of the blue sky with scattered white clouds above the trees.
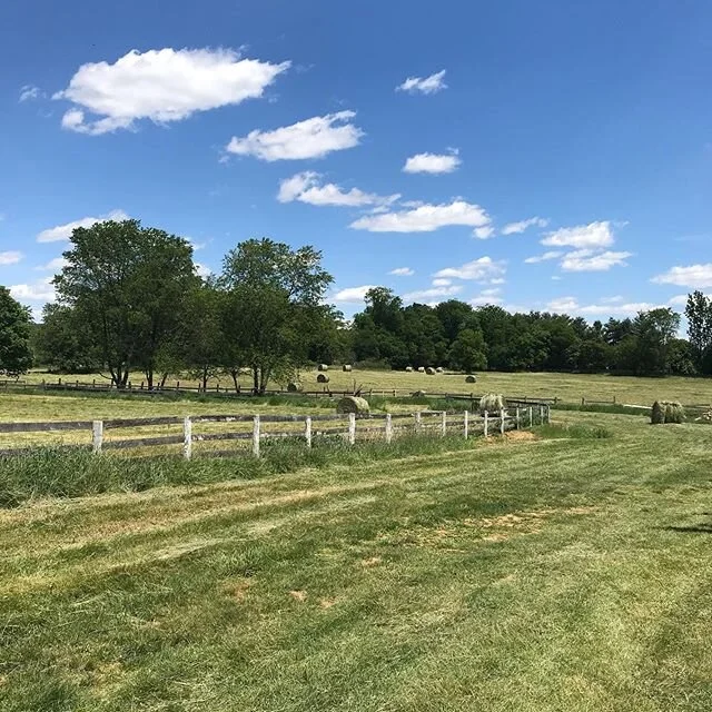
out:
<path id="1" fill-rule="evenodd" d="M 0 284 L 130 216 L 370 285 L 607 318 L 712 287 L 712 3 L 0 8 Z M 394 270 L 398 270 L 393 274 Z"/>

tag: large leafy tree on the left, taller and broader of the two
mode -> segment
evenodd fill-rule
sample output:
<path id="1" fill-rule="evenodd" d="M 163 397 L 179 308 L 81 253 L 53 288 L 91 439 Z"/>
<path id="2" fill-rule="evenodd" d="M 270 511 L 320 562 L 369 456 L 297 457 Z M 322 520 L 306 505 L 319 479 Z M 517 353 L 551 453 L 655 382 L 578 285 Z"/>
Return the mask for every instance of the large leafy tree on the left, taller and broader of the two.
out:
<path id="1" fill-rule="evenodd" d="M 117 387 L 140 368 L 152 388 L 197 279 L 192 248 L 138 220 L 77 228 L 70 239 L 67 265 L 55 278 L 60 304 L 76 310 Z"/>

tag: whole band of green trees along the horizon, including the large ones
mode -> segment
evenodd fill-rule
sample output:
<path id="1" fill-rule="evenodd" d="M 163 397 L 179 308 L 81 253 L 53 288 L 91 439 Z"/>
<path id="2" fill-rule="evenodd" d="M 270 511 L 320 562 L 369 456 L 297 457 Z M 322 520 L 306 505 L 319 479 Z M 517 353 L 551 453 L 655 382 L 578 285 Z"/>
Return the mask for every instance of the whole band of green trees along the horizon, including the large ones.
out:
<path id="1" fill-rule="evenodd" d="M 411 304 L 389 289 L 366 294 L 350 323 L 325 296 L 333 283 L 312 247 L 240 243 L 219 275 L 202 278 L 190 244 L 137 220 L 77 228 L 55 278 L 57 303 L 32 324 L 0 287 L 0 374 L 33 363 L 56 373 L 101 372 L 119 388 L 149 388 L 169 374 L 205 386 L 248 370 L 250 386 L 286 384 L 314 363 L 463 372 L 551 370 L 633 375 L 712 374 L 712 300 L 695 291 L 679 337 L 669 308 L 589 324 L 581 317 L 459 300 Z"/>

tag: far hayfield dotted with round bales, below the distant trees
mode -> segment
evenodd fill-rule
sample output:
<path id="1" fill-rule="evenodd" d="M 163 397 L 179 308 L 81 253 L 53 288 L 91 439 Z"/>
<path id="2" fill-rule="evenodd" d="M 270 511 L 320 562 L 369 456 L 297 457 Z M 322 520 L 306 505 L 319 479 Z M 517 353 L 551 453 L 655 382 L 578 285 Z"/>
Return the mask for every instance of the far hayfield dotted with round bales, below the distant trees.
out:
<path id="1" fill-rule="evenodd" d="M 557 397 L 565 403 L 587 400 L 609 400 L 615 397 L 619 403 L 632 403 L 637 405 L 650 405 L 656 398 L 668 400 L 680 400 L 686 405 L 700 405 L 712 403 L 712 380 L 704 378 L 685 378 L 681 376 L 670 376 L 666 378 L 643 378 L 633 376 L 609 376 L 609 375 L 586 375 L 586 374 L 554 374 L 554 373 L 493 373 L 483 372 L 477 374 L 477 383 L 467 384 L 462 374 L 426 374 L 405 373 L 395 370 L 354 370 L 343 373 L 340 368 L 334 367 L 328 372 L 330 382 L 329 388 L 334 390 L 350 389 L 354 383 L 365 389 L 373 388 L 375 393 L 382 390 L 402 389 L 413 392 L 424 389 L 432 393 L 471 393 L 483 394 L 487 392 L 503 393 L 507 396 L 528 397 Z M 316 380 L 316 370 L 304 372 L 301 384 L 307 390 L 323 390 L 324 384 Z M 57 382 L 57 376 L 41 373 L 30 373 L 27 380 L 41 383 L 42 378 L 48 382 Z M 138 376 L 137 376 L 138 379 Z M 66 383 L 75 380 L 91 383 L 92 376 L 68 375 L 62 376 Z M 97 377 L 97 383 L 106 383 L 106 379 Z M 137 380 L 140 384 L 140 380 Z M 180 378 L 182 385 L 197 385 Z M 218 382 L 212 380 L 211 387 Z M 244 388 L 250 387 L 247 376 L 240 378 Z M 175 385 L 176 380 L 169 380 L 168 385 Z M 229 387 L 228 378 L 219 382 L 221 387 Z M 283 387 L 273 384 L 273 387 Z"/>

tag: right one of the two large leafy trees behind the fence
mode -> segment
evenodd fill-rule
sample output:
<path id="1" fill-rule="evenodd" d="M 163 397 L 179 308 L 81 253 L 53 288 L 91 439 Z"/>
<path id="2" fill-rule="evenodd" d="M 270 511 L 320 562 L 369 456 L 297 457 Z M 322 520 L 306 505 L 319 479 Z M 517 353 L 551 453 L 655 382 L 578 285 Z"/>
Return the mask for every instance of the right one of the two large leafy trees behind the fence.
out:
<path id="1" fill-rule="evenodd" d="M 226 291 L 224 329 L 230 367 L 247 366 L 264 393 L 271 378 L 287 380 L 323 336 L 330 307 L 322 304 L 333 277 L 313 247 L 293 250 L 250 239 L 228 253 L 219 284 Z"/>

